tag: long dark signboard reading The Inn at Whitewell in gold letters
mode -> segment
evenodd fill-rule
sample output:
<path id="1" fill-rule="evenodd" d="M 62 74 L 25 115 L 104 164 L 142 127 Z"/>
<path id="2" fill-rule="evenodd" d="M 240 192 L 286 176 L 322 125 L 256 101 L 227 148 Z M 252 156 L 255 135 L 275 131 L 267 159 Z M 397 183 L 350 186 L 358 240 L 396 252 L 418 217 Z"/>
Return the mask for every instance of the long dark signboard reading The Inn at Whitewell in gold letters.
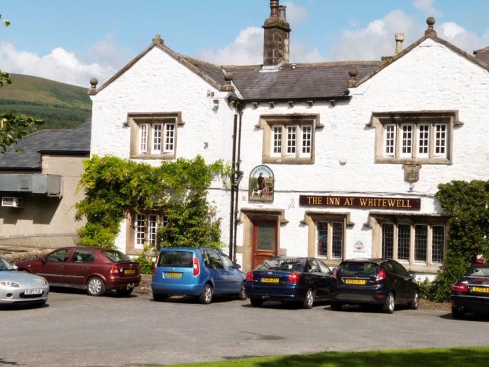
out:
<path id="1" fill-rule="evenodd" d="M 420 210 L 419 198 L 384 198 L 370 196 L 312 196 L 300 195 L 300 206 L 336 206 L 341 208 L 376 208 Z"/>

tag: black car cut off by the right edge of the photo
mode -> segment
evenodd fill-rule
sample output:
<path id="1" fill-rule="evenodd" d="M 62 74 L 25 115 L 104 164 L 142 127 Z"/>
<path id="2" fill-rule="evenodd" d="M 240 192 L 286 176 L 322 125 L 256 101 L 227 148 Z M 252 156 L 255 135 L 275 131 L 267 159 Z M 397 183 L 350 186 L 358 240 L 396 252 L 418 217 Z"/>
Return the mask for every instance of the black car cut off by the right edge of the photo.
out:
<path id="1" fill-rule="evenodd" d="M 474 264 L 452 285 L 452 315 L 465 312 L 489 312 L 489 264 Z"/>

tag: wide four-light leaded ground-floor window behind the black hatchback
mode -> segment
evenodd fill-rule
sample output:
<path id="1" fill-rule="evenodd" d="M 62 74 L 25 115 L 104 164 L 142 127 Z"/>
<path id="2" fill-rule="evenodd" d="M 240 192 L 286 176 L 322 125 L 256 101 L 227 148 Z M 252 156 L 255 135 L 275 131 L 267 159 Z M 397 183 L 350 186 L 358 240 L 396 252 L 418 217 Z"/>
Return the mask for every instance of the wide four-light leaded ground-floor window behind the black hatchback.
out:
<path id="1" fill-rule="evenodd" d="M 409 264 L 442 264 L 446 225 L 423 222 L 400 223 L 390 218 L 380 223 L 381 257 Z"/>

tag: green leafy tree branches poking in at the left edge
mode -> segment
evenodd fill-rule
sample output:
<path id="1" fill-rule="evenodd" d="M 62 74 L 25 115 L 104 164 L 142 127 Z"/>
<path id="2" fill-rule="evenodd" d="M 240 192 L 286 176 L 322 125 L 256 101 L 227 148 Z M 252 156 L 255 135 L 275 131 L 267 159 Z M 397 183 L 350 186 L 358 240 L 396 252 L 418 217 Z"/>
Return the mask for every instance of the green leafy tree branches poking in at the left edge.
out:
<path id="1" fill-rule="evenodd" d="M 0 20 L 5 24 L 5 27 L 10 25 L 10 22 L 4 19 L 1 14 Z M 0 87 L 11 83 L 10 74 L 0 70 Z M 20 113 L 0 113 L 0 154 L 6 152 L 7 147 L 15 145 L 29 134 L 35 125 L 43 123 L 43 120 L 37 120 L 34 117 L 28 117 Z M 19 149 L 15 148 L 15 150 L 18 151 Z"/>

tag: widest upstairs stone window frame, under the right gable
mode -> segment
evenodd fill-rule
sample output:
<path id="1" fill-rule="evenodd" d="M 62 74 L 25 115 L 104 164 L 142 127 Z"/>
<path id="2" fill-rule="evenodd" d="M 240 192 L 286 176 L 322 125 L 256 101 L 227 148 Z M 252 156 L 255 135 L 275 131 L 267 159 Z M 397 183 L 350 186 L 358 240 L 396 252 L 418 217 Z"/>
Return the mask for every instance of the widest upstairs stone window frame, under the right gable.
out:
<path id="1" fill-rule="evenodd" d="M 411 126 L 411 152 L 403 152 L 404 127 Z M 428 131 L 425 127 L 428 125 Z M 443 126 L 444 153 L 437 153 L 437 127 Z M 400 111 L 372 113 L 367 127 L 375 129 L 375 163 L 379 164 L 452 164 L 453 130 L 461 127 L 458 110 Z M 393 129 L 394 127 L 394 129 Z M 391 131 L 391 130 L 394 131 Z M 393 134 L 391 136 L 390 134 Z M 428 135 L 428 141 L 426 141 Z M 388 149 L 394 142 L 393 151 Z M 419 148 L 427 147 L 427 152 Z"/>

